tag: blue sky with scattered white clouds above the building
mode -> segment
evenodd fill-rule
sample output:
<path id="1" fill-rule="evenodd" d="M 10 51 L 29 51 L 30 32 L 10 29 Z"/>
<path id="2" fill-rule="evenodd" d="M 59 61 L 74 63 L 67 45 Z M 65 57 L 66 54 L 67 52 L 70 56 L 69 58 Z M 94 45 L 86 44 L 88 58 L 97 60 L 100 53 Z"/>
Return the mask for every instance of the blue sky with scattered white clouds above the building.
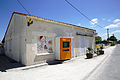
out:
<path id="1" fill-rule="evenodd" d="M 110 35 L 114 34 L 120 40 L 120 0 L 68 0 L 103 28 L 88 21 L 64 0 L 19 1 L 31 15 L 92 28 L 103 39 L 106 39 L 106 28 L 109 28 Z M 14 11 L 27 13 L 16 0 L 0 0 L 0 41 Z"/>

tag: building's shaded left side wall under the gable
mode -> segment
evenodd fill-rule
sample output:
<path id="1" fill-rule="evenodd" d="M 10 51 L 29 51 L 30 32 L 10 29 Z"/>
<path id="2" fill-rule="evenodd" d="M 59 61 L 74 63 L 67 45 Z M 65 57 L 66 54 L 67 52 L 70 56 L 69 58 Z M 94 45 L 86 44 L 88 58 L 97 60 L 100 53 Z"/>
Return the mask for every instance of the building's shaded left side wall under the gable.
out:
<path id="1" fill-rule="evenodd" d="M 26 64 L 25 17 L 15 14 L 5 37 L 5 54 L 22 64 Z"/>

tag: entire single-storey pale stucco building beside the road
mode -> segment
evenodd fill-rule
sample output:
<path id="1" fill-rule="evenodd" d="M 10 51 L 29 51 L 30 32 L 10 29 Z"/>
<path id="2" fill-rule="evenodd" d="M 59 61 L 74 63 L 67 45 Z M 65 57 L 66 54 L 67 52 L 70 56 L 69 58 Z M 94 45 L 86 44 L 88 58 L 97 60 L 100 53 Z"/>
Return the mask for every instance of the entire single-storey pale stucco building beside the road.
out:
<path id="1" fill-rule="evenodd" d="M 14 12 L 3 43 L 5 54 L 24 65 L 66 60 L 94 49 L 95 30 Z"/>

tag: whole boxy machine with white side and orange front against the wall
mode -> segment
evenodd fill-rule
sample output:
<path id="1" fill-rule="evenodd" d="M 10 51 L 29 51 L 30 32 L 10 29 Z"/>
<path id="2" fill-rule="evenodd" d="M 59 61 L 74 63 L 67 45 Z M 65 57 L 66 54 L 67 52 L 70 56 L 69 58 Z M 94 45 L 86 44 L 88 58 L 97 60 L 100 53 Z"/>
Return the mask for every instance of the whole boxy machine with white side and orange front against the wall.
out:
<path id="1" fill-rule="evenodd" d="M 72 58 L 72 38 L 56 38 L 56 59 L 67 60 Z"/>

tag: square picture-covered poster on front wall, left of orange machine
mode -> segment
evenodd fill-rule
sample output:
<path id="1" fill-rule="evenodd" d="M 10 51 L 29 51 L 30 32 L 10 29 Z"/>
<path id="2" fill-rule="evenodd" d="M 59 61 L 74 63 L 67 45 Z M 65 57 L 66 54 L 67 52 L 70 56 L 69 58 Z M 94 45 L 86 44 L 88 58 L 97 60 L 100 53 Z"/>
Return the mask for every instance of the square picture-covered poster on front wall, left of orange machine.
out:
<path id="1" fill-rule="evenodd" d="M 37 53 L 53 53 L 51 37 L 39 37 L 39 40 L 37 42 Z"/>

